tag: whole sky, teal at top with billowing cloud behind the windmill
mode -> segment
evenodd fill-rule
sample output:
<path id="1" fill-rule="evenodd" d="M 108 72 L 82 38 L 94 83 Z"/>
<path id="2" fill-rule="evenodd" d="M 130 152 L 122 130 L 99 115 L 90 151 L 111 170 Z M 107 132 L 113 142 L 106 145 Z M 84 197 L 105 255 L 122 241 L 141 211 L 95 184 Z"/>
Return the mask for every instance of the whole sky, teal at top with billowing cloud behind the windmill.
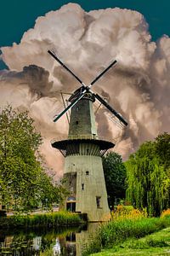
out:
<path id="1" fill-rule="evenodd" d="M 141 143 L 169 132 L 169 9 L 167 0 L 1 1 L 0 48 L 7 66 L 0 61 L 0 108 L 9 103 L 29 111 L 48 166 L 62 173 L 62 156 L 51 147 L 54 137 L 66 138 L 68 132 L 65 116 L 53 122 L 63 109 L 59 91 L 80 85 L 48 49 L 85 84 L 116 59 L 94 91 L 128 126 L 120 130 L 104 108 L 96 121 L 99 136 L 116 140 L 114 150 L 123 160 Z"/>

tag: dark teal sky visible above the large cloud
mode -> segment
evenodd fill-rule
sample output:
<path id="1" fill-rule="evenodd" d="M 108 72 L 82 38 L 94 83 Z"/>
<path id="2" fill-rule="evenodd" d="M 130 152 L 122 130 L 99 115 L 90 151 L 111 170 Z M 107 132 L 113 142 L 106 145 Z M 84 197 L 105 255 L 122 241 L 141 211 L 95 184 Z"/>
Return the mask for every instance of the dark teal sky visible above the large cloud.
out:
<path id="1" fill-rule="evenodd" d="M 23 33 L 34 26 L 38 16 L 59 9 L 65 3 L 79 3 L 82 9 L 126 8 L 138 10 L 149 23 L 153 40 L 170 34 L 170 1 L 168 0 L 1 0 L 0 46 L 19 43 Z M 0 69 L 4 67 L 0 63 Z"/>

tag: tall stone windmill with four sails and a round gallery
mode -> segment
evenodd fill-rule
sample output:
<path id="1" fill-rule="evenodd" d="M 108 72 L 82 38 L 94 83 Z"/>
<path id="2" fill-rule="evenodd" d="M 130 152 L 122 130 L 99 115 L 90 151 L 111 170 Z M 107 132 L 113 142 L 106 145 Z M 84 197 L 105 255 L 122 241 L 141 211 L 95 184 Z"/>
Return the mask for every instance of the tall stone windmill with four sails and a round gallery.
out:
<path id="1" fill-rule="evenodd" d="M 127 125 L 127 121 L 103 97 L 94 93 L 91 87 L 116 64 L 116 61 L 112 61 L 109 67 L 99 73 L 87 86 L 59 60 L 53 51 L 48 50 L 48 53 L 81 84 L 81 87 L 70 96 L 68 100 L 70 104 L 54 118 L 56 122 L 71 109 L 68 138 L 52 143 L 52 147 L 58 148 L 65 156 L 65 186 L 70 191 L 70 195 L 65 198 L 62 207 L 71 212 L 88 213 L 89 221 L 101 221 L 110 212 L 102 156 L 115 144 L 99 139 L 93 103 L 98 100 L 122 125 Z"/>

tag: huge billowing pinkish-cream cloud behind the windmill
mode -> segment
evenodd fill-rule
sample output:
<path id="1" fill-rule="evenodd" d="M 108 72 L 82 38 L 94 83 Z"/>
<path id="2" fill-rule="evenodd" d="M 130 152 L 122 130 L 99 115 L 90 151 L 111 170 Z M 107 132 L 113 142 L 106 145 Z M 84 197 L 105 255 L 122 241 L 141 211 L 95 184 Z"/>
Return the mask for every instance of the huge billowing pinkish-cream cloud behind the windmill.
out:
<path id="1" fill-rule="evenodd" d="M 79 84 L 48 55 L 48 49 L 54 49 L 87 84 L 112 60 L 118 61 L 94 90 L 108 96 L 129 122 L 122 131 L 104 109 L 97 117 L 99 134 L 116 138 L 116 151 L 124 158 L 140 143 L 169 131 L 170 38 L 151 42 L 144 16 L 136 11 L 116 8 L 86 13 L 69 3 L 39 17 L 20 44 L 2 48 L 9 71 L 1 73 L 0 100 L 3 105 L 9 102 L 29 109 L 45 138 L 42 152 L 49 166 L 61 172 L 59 154 L 49 141 L 60 136 L 60 131 L 65 135 L 68 128 L 65 118 L 54 125 L 49 113 L 60 108 L 59 90 L 71 92 Z"/>

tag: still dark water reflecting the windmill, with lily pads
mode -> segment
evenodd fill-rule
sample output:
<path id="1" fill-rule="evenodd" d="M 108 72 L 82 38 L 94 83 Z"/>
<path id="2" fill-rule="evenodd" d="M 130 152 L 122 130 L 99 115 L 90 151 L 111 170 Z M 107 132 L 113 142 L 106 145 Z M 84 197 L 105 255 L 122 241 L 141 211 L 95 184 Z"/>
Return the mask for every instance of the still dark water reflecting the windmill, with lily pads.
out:
<path id="1" fill-rule="evenodd" d="M 3 256 L 81 256 L 82 248 L 92 241 L 98 224 L 54 230 L 0 231 Z"/>

